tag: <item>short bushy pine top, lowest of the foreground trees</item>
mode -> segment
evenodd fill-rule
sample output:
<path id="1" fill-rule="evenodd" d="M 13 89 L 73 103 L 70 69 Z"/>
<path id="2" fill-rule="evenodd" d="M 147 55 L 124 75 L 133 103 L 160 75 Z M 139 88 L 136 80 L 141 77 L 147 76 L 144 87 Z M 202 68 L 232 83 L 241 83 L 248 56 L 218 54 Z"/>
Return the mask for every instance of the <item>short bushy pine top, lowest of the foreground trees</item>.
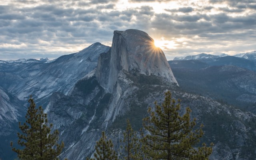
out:
<path id="1" fill-rule="evenodd" d="M 96 160 L 117 160 L 116 152 L 114 151 L 113 143 L 111 140 L 107 140 L 105 132 L 102 132 L 102 137 L 95 145 L 96 153 L 94 153 L 94 157 Z M 87 158 L 86 160 L 89 160 Z M 95 160 L 94 158 L 90 158 L 90 160 Z"/>

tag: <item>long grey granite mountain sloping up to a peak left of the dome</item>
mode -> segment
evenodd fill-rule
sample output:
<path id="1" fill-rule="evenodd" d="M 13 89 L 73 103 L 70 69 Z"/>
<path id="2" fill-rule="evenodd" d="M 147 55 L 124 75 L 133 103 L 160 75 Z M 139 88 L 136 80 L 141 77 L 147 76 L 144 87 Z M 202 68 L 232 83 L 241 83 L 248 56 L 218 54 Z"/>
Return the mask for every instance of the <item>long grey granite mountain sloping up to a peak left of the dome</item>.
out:
<path id="1" fill-rule="evenodd" d="M 37 103 L 46 106 L 53 92 L 68 94 L 78 79 L 96 68 L 99 55 L 109 49 L 109 46 L 95 43 L 52 62 L 34 59 L 1 61 L 0 74 L 4 76 L 0 82 L 20 100 L 27 100 L 33 94 Z"/>

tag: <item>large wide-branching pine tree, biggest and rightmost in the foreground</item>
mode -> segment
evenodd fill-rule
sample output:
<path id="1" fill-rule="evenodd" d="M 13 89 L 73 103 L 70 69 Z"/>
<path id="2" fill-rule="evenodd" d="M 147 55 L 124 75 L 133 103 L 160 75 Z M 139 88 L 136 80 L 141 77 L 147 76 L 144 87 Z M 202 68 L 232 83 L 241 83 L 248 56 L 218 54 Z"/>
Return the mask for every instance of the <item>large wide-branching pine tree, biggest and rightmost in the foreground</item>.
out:
<path id="1" fill-rule="evenodd" d="M 190 108 L 183 116 L 179 115 L 178 104 L 172 99 L 170 91 L 161 106 L 155 102 L 155 111 L 148 109 L 149 116 L 143 119 L 143 126 L 149 133 L 142 133 L 142 150 L 147 159 L 162 160 L 208 160 L 212 147 L 193 148 L 203 136 L 202 125 L 193 131 L 196 119 L 190 120 Z M 213 145 L 213 144 L 211 144 Z"/>

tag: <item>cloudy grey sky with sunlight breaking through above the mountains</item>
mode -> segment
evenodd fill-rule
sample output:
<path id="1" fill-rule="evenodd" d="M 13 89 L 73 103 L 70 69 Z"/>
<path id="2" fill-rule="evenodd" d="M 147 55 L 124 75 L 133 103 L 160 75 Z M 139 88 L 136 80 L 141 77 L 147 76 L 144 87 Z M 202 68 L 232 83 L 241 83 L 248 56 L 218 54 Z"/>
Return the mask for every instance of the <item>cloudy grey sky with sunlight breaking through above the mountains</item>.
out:
<path id="1" fill-rule="evenodd" d="M 147 32 L 175 56 L 256 50 L 256 0 L 0 0 L 0 59 L 54 59 L 113 31 Z"/>

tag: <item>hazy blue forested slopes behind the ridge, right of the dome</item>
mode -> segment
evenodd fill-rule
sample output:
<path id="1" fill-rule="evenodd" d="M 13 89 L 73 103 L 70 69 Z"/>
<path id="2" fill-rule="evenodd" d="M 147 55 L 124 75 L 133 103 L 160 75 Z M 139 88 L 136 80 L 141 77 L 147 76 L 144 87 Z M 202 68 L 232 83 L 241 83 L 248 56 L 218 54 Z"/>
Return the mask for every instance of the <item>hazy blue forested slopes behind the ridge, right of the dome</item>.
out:
<path id="1" fill-rule="evenodd" d="M 234 65 L 210 66 L 197 60 L 168 61 L 180 88 L 255 112 L 256 72 Z"/>

